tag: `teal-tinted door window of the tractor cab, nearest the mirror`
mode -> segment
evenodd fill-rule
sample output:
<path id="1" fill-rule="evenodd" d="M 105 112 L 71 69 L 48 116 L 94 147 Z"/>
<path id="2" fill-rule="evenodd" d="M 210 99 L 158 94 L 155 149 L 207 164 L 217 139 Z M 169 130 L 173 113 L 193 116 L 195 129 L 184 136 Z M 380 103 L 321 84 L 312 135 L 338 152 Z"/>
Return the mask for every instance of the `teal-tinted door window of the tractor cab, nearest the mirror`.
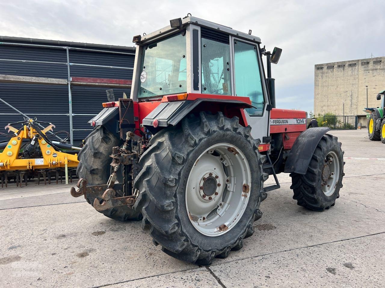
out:
<path id="1" fill-rule="evenodd" d="M 256 108 L 245 109 L 250 116 L 261 116 L 264 98 L 255 45 L 234 41 L 234 76 L 236 96 L 249 97 Z"/>

